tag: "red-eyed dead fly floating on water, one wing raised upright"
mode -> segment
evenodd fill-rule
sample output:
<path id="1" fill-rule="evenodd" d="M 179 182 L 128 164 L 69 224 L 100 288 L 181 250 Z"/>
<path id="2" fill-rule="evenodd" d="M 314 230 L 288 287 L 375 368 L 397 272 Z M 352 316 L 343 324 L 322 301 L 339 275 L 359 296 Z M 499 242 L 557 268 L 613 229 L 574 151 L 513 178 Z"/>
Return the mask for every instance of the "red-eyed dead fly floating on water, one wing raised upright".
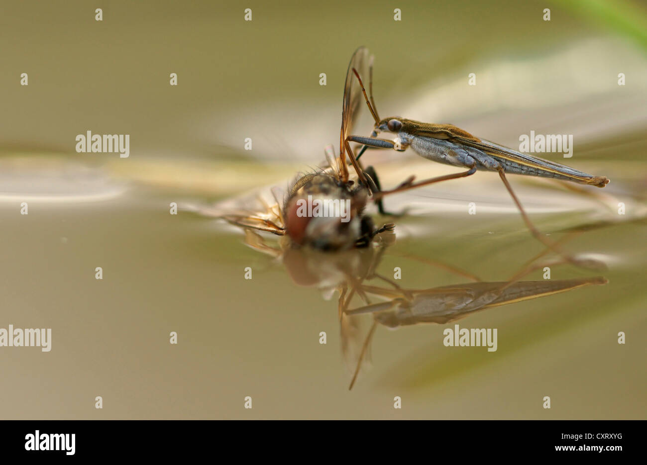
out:
<path id="1" fill-rule="evenodd" d="M 265 203 L 264 212 L 219 215 L 221 218 L 243 228 L 285 236 L 292 244 L 317 250 L 364 247 L 376 235 L 393 230 L 392 223 L 377 228 L 371 217 L 365 214 L 371 195 L 379 190 L 375 170 L 372 167 L 364 170 L 351 157 L 356 179 L 350 179 L 347 166 L 347 134 L 364 104 L 360 87 L 353 85 L 355 79 L 351 70 L 366 69 L 367 62 L 367 50 L 360 48 L 349 63 L 344 87 L 340 156 L 335 157 L 334 149 L 327 147 L 328 166 L 298 178 L 283 202 L 273 192 L 276 204 Z M 378 202 L 380 212 L 381 205 Z"/>

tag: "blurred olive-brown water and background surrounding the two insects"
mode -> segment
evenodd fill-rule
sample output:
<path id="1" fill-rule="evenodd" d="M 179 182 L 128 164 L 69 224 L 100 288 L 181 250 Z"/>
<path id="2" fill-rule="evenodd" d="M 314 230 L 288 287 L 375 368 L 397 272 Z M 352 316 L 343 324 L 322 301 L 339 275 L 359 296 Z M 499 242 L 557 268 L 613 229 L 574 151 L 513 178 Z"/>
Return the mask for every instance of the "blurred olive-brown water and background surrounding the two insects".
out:
<path id="1" fill-rule="evenodd" d="M 51 328 L 52 351 L 0 349 L 0 417 L 645 418 L 644 3 L 102 0 L 1 9 L 0 327 Z M 573 134 L 565 162 L 611 178 L 599 197 L 513 182 L 554 237 L 596 225 L 568 248 L 608 270 L 555 266 L 553 279 L 601 274 L 609 283 L 458 322 L 497 328 L 496 352 L 444 347 L 443 325 L 379 327 L 373 367 L 349 392 L 336 294 L 325 300 L 294 285 L 240 232 L 185 211 L 171 216 L 169 204 L 285 184 L 320 164 L 339 138 L 345 72 L 359 45 L 376 56 L 382 117 L 452 122 L 512 147 L 531 130 Z M 23 72 L 28 86 L 19 85 Z M 371 131 L 366 113 L 361 135 Z M 88 130 L 129 134 L 129 158 L 76 153 L 76 135 Z M 410 154 L 365 157 L 386 185 L 412 169 L 420 178 L 446 172 Z M 390 202 L 415 207 L 397 220 L 399 237 L 379 265 L 386 276 L 400 266 L 402 287 L 465 281 L 402 255 L 505 281 L 541 252 L 496 175 L 456 183 Z M 483 210 L 468 217 L 472 201 Z M 245 396 L 253 409 L 243 408 Z"/>

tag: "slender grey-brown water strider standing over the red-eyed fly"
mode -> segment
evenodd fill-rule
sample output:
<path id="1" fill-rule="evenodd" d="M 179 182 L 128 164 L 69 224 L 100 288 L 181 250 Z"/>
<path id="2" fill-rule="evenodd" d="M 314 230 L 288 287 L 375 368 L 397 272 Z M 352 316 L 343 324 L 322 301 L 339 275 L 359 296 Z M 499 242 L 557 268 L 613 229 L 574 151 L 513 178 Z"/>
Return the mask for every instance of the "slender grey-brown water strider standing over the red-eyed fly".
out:
<path id="1" fill-rule="evenodd" d="M 394 149 L 397 151 L 404 151 L 407 147 L 411 147 L 418 155 L 421 155 L 421 157 L 443 164 L 466 168 L 466 171 L 461 173 L 429 178 L 418 182 L 413 182 L 414 177 L 411 176 L 395 189 L 376 193 L 374 196 L 376 200 L 387 194 L 426 186 L 434 182 L 471 176 L 476 173 L 477 170 L 496 171 L 499 173 L 499 177 L 501 177 L 503 184 L 505 184 L 505 187 L 510 193 L 510 197 L 512 197 L 512 200 L 514 200 L 514 203 L 521 212 L 521 217 L 523 217 L 523 221 L 529 230 L 531 230 L 532 235 L 546 246 L 555 250 L 554 244 L 545 239 L 545 237 L 538 232 L 530 221 L 521 206 L 521 202 L 515 195 L 514 191 L 512 191 L 512 187 L 507 180 L 506 173 L 568 180 L 578 182 L 580 184 L 589 184 L 590 186 L 596 186 L 598 188 L 603 188 L 609 182 L 608 178 L 604 176 L 588 175 L 587 173 L 569 168 L 562 164 L 543 160 L 538 157 L 532 157 L 531 155 L 526 155 L 507 147 L 499 146 L 498 144 L 494 144 L 494 142 L 479 139 L 451 124 L 422 123 L 419 121 L 408 120 L 406 118 L 400 118 L 399 116 L 380 119 L 373 100 L 372 58 L 373 57 L 371 56 L 369 62 L 370 101 L 369 97 L 366 95 L 366 89 L 364 89 L 360 72 L 357 69 L 353 69 L 353 73 L 362 87 L 366 105 L 375 120 L 375 129 L 373 129 L 371 137 L 354 135 L 347 137 L 347 141 L 364 144 L 362 151 L 358 153 L 356 159 L 362 156 L 362 153 L 364 153 L 367 147 Z M 397 135 L 397 137 L 394 140 L 378 138 L 378 133 L 383 131 L 393 133 Z M 349 155 L 351 155 L 351 159 L 355 158 L 350 149 Z M 569 259 L 569 261 L 572 260 Z"/>

